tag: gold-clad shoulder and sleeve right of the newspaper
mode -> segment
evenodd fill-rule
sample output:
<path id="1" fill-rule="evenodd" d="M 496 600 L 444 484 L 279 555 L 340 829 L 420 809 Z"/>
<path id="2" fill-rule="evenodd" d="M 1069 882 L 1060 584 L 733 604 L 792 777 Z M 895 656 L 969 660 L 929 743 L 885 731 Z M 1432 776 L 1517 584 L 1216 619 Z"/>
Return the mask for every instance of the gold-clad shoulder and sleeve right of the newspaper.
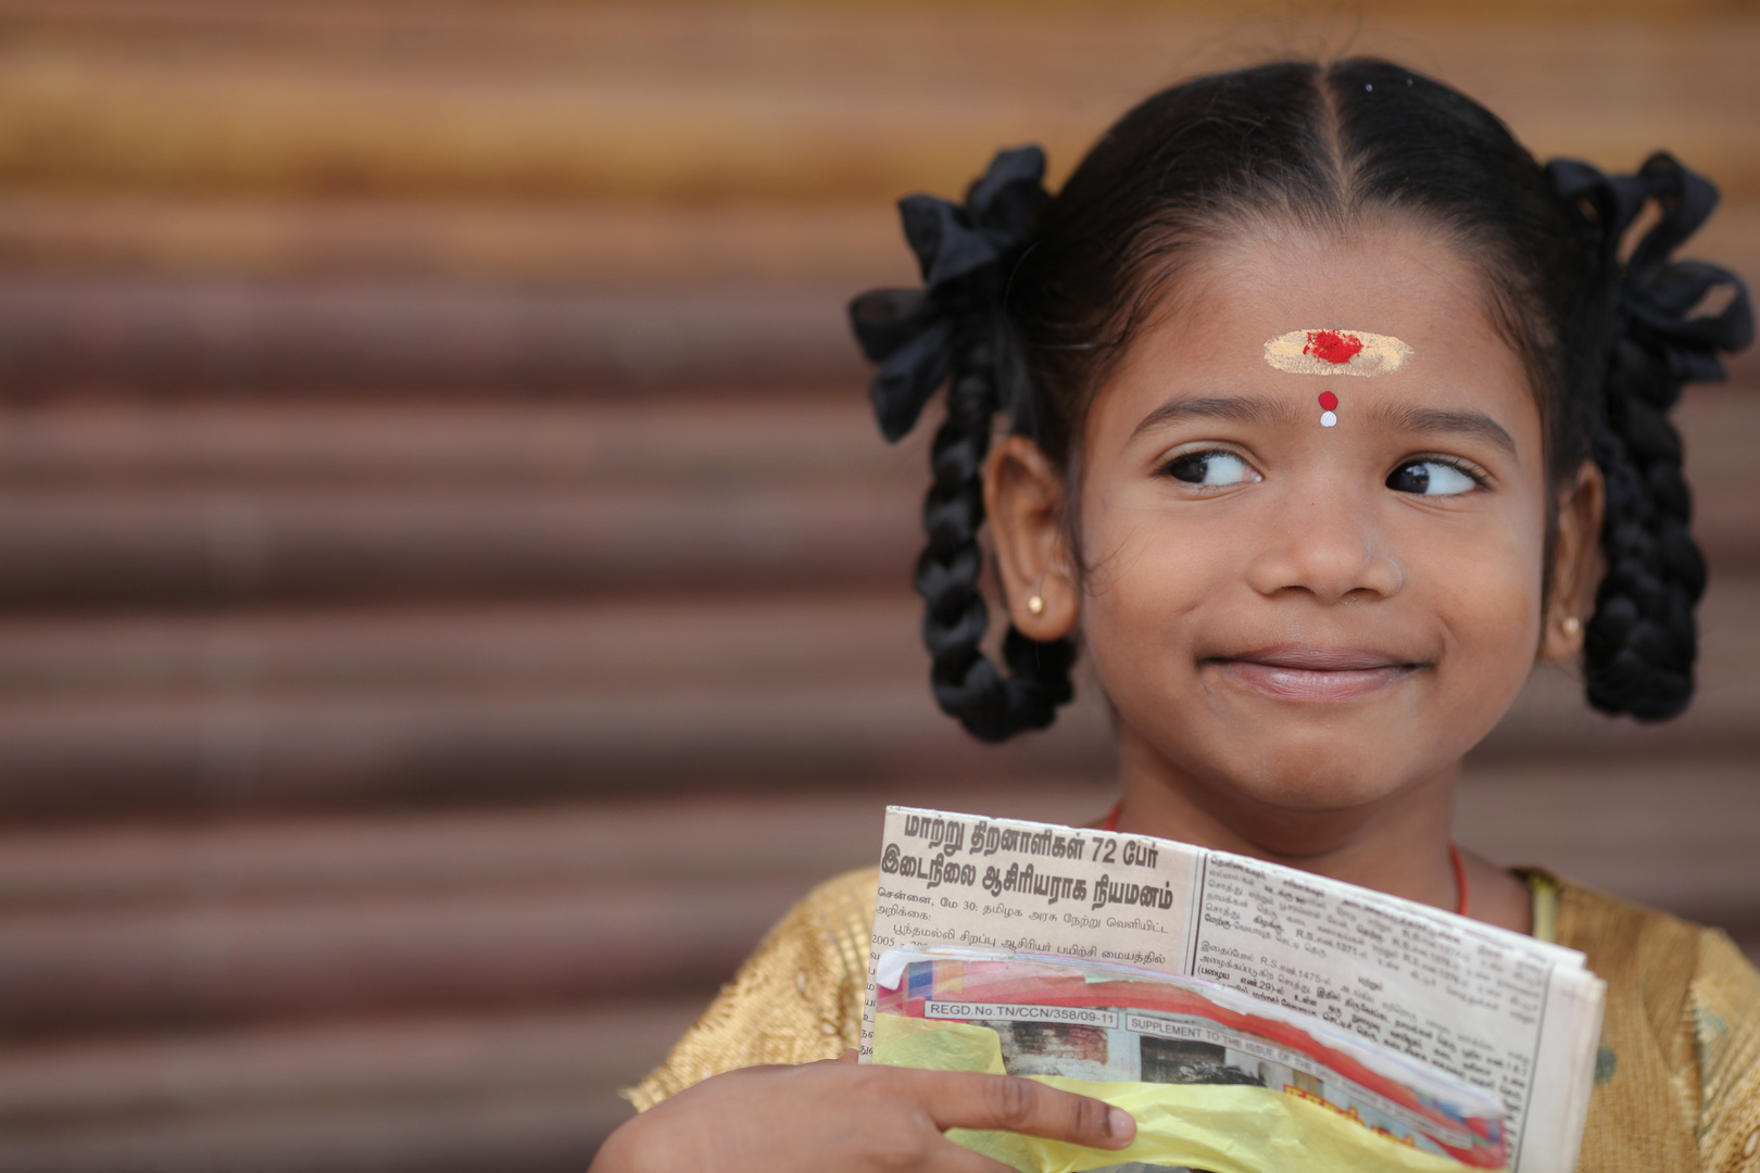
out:
<path id="1" fill-rule="evenodd" d="M 1716 929 L 1528 876 L 1556 885 L 1558 943 L 1607 981 L 1579 1168 L 1748 1168 L 1760 1157 L 1760 973 Z"/>

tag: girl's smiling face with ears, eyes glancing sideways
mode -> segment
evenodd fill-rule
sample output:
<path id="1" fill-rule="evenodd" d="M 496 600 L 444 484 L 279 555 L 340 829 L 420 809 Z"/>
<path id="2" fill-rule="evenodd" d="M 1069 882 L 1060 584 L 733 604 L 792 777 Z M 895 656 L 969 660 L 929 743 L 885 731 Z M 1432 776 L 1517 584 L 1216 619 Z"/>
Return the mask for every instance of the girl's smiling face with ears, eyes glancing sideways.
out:
<path id="1" fill-rule="evenodd" d="M 1320 329 L 1410 355 L 1371 376 L 1267 364 L 1269 339 Z M 1213 809 L 1369 811 L 1452 777 L 1542 645 L 1538 408 L 1482 278 L 1413 230 L 1267 234 L 1183 280 L 1091 404 L 1081 573 L 1023 524 L 1054 514 L 1023 505 L 1049 501 L 1023 489 L 1035 463 L 1010 475 L 1007 447 L 998 461 L 1014 619 L 1037 638 L 1079 623 L 1126 783 L 1153 776 Z M 1017 603 L 1035 593 L 1037 617 Z"/>

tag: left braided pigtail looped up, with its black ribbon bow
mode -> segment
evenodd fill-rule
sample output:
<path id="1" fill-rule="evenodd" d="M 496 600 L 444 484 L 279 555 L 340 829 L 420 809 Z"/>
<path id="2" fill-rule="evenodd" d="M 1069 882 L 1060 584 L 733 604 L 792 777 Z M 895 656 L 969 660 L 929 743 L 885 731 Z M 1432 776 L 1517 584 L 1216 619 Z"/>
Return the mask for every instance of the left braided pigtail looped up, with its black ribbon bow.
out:
<path id="1" fill-rule="evenodd" d="M 929 454 L 933 480 L 922 505 L 929 542 L 917 559 L 917 593 L 935 700 L 991 742 L 1045 728 L 1074 696 L 1068 638 L 1042 644 L 1010 624 L 1003 638 L 1008 675 L 998 672 L 982 651 L 989 608 L 979 593 L 991 422 L 1001 412 L 1017 429 L 1030 429 L 1033 417 L 1003 292 L 1049 199 L 1044 174 L 1038 148 L 1003 151 L 964 204 L 929 195 L 901 200 L 924 288 L 875 290 L 850 304 L 855 336 L 878 364 L 869 396 L 889 441 L 903 438 L 950 382 L 947 419 Z"/>

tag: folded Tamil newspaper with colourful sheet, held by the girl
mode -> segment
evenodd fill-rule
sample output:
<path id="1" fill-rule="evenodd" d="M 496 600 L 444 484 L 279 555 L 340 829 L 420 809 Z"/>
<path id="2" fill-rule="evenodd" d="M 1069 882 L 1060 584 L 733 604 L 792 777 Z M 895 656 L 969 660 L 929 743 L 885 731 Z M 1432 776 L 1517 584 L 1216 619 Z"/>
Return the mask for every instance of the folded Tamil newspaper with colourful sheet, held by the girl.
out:
<path id="1" fill-rule="evenodd" d="M 891 807 L 862 1060 L 1007 1071 L 1137 1117 L 1026 1173 L 1568 1173 L 1602 1022 L 1582 955 L 1190 844 Z"/>

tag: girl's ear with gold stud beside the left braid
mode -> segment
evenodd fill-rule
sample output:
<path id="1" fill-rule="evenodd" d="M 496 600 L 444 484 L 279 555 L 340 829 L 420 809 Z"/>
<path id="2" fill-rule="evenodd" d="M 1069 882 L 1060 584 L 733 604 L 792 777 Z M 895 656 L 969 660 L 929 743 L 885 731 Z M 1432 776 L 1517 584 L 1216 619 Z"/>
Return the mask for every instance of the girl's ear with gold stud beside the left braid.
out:
<path id="1" fill-rule="evenodd" d="M 996 538 L 996 568 L 1008 619 L 1049 644 L 1075 630 L 1081 598 L 1063 533 L 1063 477 L 1024 436 L 1008 436 L 984 464 L 984 512 Z"/>

